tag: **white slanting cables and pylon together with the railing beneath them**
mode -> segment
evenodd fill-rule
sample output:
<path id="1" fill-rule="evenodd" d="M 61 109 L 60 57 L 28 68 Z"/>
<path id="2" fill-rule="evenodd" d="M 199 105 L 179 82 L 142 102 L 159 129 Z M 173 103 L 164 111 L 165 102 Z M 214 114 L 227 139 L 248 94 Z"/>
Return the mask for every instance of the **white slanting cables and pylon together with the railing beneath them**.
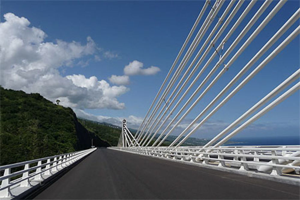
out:
<path id="1" fill-rule="evenodd" d="M 294 170 L 298 173 L 299 145 L 253 147 L 222 145 L 298 91 L 300 69 L 290 73 L 288 77 L 283 77 L 279 85 L 274 85 L 263 98 L 258 98 L 257 103 L 250 105 L 250 109 L 220 133 L 216 133 L 206 145 L 197 147 L 181 145 L 277 54 L 293 42 L 300 33 L 300 26 L 296 26 L 299 24 L 300 8 L 294 13 L 291 12 L 283 24 L 273 28 L 276 31 L 270 31 L 270 37 L 264 38 L 265 41 L 261 45 L 256 45 L 254 56 L 245 64 L 239 64 L 240 70 L 229 79 L 227 84 L 222 84 L 221 91 L 214 94 L 209 103 L 204 108 L 201 107 L 202 110 L 197 108 L 198 115 L 193 116 L 193 121 L 185 126 L 169 146 L 161 147 L 168 136 L 174 134 L 174 130 L 183 123 L 187 115 L 192 111 L 195 112 L 197 104 L 203 101 L 211 88 L 220 79 L 226 78 L 229 67 L 243 55 L 244 51 L 247 52 L 247 47 L 252 41 L 256 41 L 259 33 L 285 3 L 286 0 L 216 0 L 214 3 L 205 1 L 137 133 L 133 136 L 128 130 L 126 120 L 123 120 L 119 144 L 114 149 L 184 162 L 217 165 L 223 168 L 257 170 L 270 175 L 282 175 L 282 172 Z M 195 30 L 198 32 L 190 42 Z M 198 49 L 197 53 L 196 49 Z M 186 66 L 188 67 L 184 69 Z M 251 67 L 253 67 L 252 71 L 248 72 Z M 205 70 L 209 68 L 210 71 L 206 72 Z M 198 69 L 198 74 L 194 76 Z M 197 82 L 199 80 L 201 81 Z"/>

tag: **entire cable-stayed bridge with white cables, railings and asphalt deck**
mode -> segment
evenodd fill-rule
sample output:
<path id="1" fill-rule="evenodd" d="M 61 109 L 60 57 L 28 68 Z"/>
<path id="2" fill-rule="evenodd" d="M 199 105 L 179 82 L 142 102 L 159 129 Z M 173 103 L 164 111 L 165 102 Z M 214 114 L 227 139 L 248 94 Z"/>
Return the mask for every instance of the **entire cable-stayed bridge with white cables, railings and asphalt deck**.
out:
<path id="1" fill-rule="evenodd" d="M 297 42 L 300 8 L 288 11 L 284 23 L 269 28 L 263 42 L 255 40 L 285 4 L 285 0 L 205 1 L 136 133 L 124 119 L 117 147 L 0 166 L 0 197 L 299 199 L 300 145 L 225 143 L 295 94 L 300 69 L 290 72 L 286 67 L 288 76 L 274 77 L 281 80 L 278 85 L 262 97 L 254 92 L 256 103 L 244 105 L 243 113 L 205 145 L 184 145 L 248 82 L 264 84 L 254 77 L 288 44 Z M 253 41 L 257 45 L 252 45 L 252 56 L 247 47 Z M 241 59 L 244 54 L 252 57 Z M 229 76 L 226 72 L 233 66 L 238 70 Z M 218 93 L 211 90 L 216 86 Z M 211 99 L 206 105 L 207 97 Z M 197 107 L 199 102 L 202 106 Z M 179 127 L 184 130 L 178 133 Z M 166 143 L 170 135 L 176 137 Z"/>

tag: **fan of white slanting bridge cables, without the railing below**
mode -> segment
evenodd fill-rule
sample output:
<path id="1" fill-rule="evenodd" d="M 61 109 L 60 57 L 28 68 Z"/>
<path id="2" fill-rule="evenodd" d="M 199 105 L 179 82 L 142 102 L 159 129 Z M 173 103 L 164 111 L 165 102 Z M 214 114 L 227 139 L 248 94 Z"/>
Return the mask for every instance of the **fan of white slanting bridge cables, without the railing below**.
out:
<path id="1" fill-rule="evenodd" d="M 259 33 L 265 29 L 274 16 L 277 15 L 277 12 L 283 7 L 286 0 L 280 0 L 274 3 L 272 1 L 264 1 L 260 5 L 259 2 L 260 1 L 244 0 L 226 2 L 217 0 L 214 1 L 212 5 L 211 1 L 205 1 L 196 22 L 191 28 L 190 33 L 182 45 L 137 133 L 133 136 L 126 126 L 125 132 L 128 133 L 121 134 L 118 146 L 149 148 L 148 146 L 150 145 L 151 148 L 158 148 L 172 133 L 175 133 L 176 128 L 183 123 L 186 116 L 194 111 L 195 106 L 207 96 L 208 91 L 226 74 L 229 67 L 243 55 L 247 47 L 256 39 Z M 277 31 L 271 35 L 270 39 L 265 40 L 265 44 L 256 50 L 256 53 L 249 59 L 247 64 L 229 80 L 225 87 L 222 87 L 221 91 L 209 101 L 208 105 L 202 105 L 204 108 L 198 112 L 199 114 L 196 117 L 193 117 L 193 120 L 184 127 L 184 130 L 176 136 L 176 139 L 171 141 L 168 148 L 179 148 L 196 130 L 203 126 L 215 112 L 237 94 L 247 82 L 253 79 L 266 64 L 292 42 L 300 33 L 299 27 L 295 28 L 289 35 L 287 35 L 287 32 L 295 25 L 295 22 L 299 21 L 299 18 L 300 8 L 296 10 L 295 13 L 291 13 L 289 19 L 277 28 Z M 189 42 L 198 26 L 198 32 L 195 34 L 192 42 Z M 265 55 L 283 36 L 285 37 L 283 41 L 268 55 Z M 188 44 L 189 47 L 185 50 Z M 263 56 L 266 56 L 266 58 L 262 59 Z M 182 59 L 179 62 L 180 58 Z M 243 75 L 260 59 L 262 59 L 262 61 L 257 64 L 257 67 L 238 83 Z M 202 64 L 203 62 L 205 62 L 205 64 Z M 175 72 L 173 72 L 177 63 L 179 64 Z M 212 68 L 206 72 L 205 70 L 211 65 Z M 188 67 L 185 69 L 186 66 Z M 198 69 L 200 70 L 195 76 Z M 199 149 L 202 153 L 197 154 L 196 157 L 200 160 L 203 159 L 203 152 L 209 153 L 209 150 L 203 151 L 203 149 L 207 149 L 211 145 L 214 145 L 214 148 L 223 145 L 228 139 L 232 138 L 253 121 L 295 93 L 295 91 L 299 90 L 298 82 L 255 114 L 260 107 L 295 82 L 299 78 L 299 73 L 300 70 L 294 72 L 280 85 L 244 112 L 244 114 L 228 125 L 223 131 L 216 134 L 213 139 L 201 147 L 202 150 L 201 148 Z M 201 78 L 201 82 L 197 84 Z M 232 91 L 229 91 L 236 83 L 238 83 L 237 86 L 235 86 Z M 227 92 L 229 92 L 229 94 L 221 100 Z M 190 94 L 189 97 L 188 94 Z M 195 99 L 197 95 L 199 96 Z M 187 100 L 185 98 L 187 98 Z M 218 101 L 220 102 L 217 106 L 213 107 Z M 205 116 L 207 112 L 208 114 Z M 253 116 L 251 117 L 251 115 Z M 247 118 L 249 119 L 247 120 Z M 243 121 L 245 122 L 243 123 Z M 237 126 L 238 128 L 229 133 L 229 131 Z M 217 144 L 215 144 L 216 142 Z"/>

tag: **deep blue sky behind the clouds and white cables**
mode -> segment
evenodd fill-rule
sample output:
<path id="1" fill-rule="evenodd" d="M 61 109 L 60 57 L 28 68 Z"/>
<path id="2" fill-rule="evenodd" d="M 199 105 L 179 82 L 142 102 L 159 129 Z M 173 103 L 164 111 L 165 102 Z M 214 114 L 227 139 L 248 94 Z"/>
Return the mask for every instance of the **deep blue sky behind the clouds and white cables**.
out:
<path id="1" fill-rule="evenodd" d="M 223 5 L 221 11 L 225 9 L 228 3 L 227 1 Z M 254 5 L 249 16 L 247 16 L 238 27 L 238 31 L 246 25 L 262 3 L 263 1 L 258 1 Z M 259 23 L 262 22 L 263 18 L 273 9 L 276 3 L 277 1 L 271 3 L 265 13 L 246 34 L 241 43 L 238 44 L 235 51 L 242 45 L 247 37 L 250 36 Z M 204 1 L 1 1 L 1 22 L 4 23 L 6 21 L 4 19 L 5 13 L 13 13 L 15 16 L 23 16 L 28 19 L 30 25 L 26 25 L 27 27 L 31 28 L 34 26 L 44 31 L 47 36 L 44 37 L 42 41 L 39 41 L 41 43 L 48 42 L 56 44 L 58 39 L 64 41 L 64 46 L 66 46 L 73 41 L 77 42 L 76 48 L 78 47 L 82 51 L 81 53 L 74 53 L 72 55 L 73 57 L 70 57 L 69 60 L 55 63 L 57 66 L 55 69 L 52 69 L 52 71 L 47 69 L 47 73 L 50 71 L 53 72 L 53 70 L 55 71 L 53 74 L 55 74 L 54 77 L 57 78 L 58 82 L 61 78 L 66 76 L 72 76 L 69 80 L 72 79 L 74 81 L 75 76 L 73 76 L 73 74 L 80 74 L 84 75 L 86 79 L 95 76 L 98 81 L 105 80 L 111 87 L 114 84 L 110 82 L 109 77 L 112 75 L 123 76 L 124 67 L 133 61 L 143 63 L 143 69 L 151 66 L 158 67 L 160 71 L 153 72 L 152 75 L 144 75 L 143 73 L 129 75 L 130 83 L 128 85 L 122 88 L 120 85 L 116 85 L 116 87 L 119 87 L 117 88 L 117 94 L 113 93 L 112 88 L 109 88 L 109 92 L 112 93 L 110 93 L 108 97 L 109 100 L 116 100 L 117 103 L 115 103 L 119 105 L 118 108 L 120 108 L 120 103 L 124 103 L 122 104 L 123 107 L 121 106 L 122 109 L 116 109 L 116 107 L 112 108 L 112 106 L 98 106 L 97 108 L 95 104 L 91 106 L 91 102 L 84 102 L 79 94 L 70 94 L 73 96 L 70 97 L 69 100 L 73 104 L 70 102 L 65 104 L 77 110 L 76 113 L 79 116 L 82 115 L 80 113 L 83 111 L 85 114 L 88 114 L 85 116 L 93 118 L 92 115 L 101 115 L 103 116 L 103 118 L 101 118 L 102 120 L 112 123 L 117 123 L 116 121 L 119 120 L 119 118 L 129 118 L 129 116 L 132 115 L 133 117 L 129 119 L 136 120 L 136 122 L 132 122 L 131 125 L 133 128 L 137 128 L 138 122 L 140 122 L 146 114 L 203 4 Z M 237 19 L 247 4 L 248 2 L 246 1 L 242 5 L 242 9 L 238 11 L 233 21 Z M 229 68 L 228 72 L 214 85 L 211 92 L 208 93 L 188 115 L 187 122 L 199 114 L 210 100 L 238 73 L 298 8 L 299 1 L 288 1 L 283 8 L 280 9 L 257 38 L 253 40 L 243 54 L 241 54 Z M 208 12 L 205 14 L 207 15 L 207 13 Z M 201 22 L 203 22 L 203 19 Z M 214 23 L 215 22 L 216 20 L 214 20 Z M 253 65 L 246 75 L 298 25 L 299 20 Z M 229 25 L 229 28 L 231 26 L 232 23 Z M 226 29 L 225 33 L 228 32 L 229 28 Z M 198 31 L 198 29 L 199 27 L 196 31 Z M 210 28 L 208 32 L 211 29 L 212 28 Z M 228 44 L 230 44 L 236 36 L 237 33 L 233 34 L 228 40 Z M 89 43 L 94 45 L 92 51 L 87 50 L 85 47 L 87 37 L 92 39 L 92 42 L 90 41 Z M 224 34 L 221 38 L 223 37 Z M 220 40 L 218 40 L 218 42 L 220 42 Z M 226 47 L 228 48 L 228 46 L 225 45 L 224 50 L 226 50 Z M 209 56 L 211 54 L 212 51 Z M 226 61 L 229 61 L 232 55 L 233 53 L 229 55 Z M 97 56 L 98 59 L 95 59 L 95 56 Z M 53 59 L 55 59 L 55 56 Z M 72 63 L 70 64 L 70 62 L 67 61 Z M 205 76 L 211 67 L 213 67 L 213 65 L 210 65 L 205 71 Z M 209 126 L 208 123 L 206 129 L 203 128 L 202 131 L 200 129 L 199 133 L 196 133 L 195 136 L 207 138 L 214 135 L 217 131 L 222 130 L 298 68 L 299 36 L 211 118 L 209 123 L 214 125 Z M 198 71 L 199 69 L 197 73 Z M 31 74 L 26 70 L 24 73 L 27 73 L 26 76 Z M 243 76 L 243 78 L 244 77 L 245 76 Z M 203 78 L 204 76 L 202 76 L 198 82 L 200 83 Z M 80 82 L 80 80 L 78 81 Z M 57 82 L 55 84 L 57 84 Z M 47 91 L 45 91 L 45 87 L 34 86 L 33 83 L 30 83 L 26 88 L 24 83 L 20 83 L 19 85 L 8 83 L 5 85 L 5 83 L 1 83 L 1 85 L 4 85 L 6 88 L 22 89 L 26 92 L 40 92 L 49 100 L 53 101 L 59 97 L 58 94 L 61 94 L 61 91 L 58 91 L 59 89 L 55 89 L 55 84 L 49 83 L 45 86 L 48 87 L 52 85 L 53 91 L 50 86 L 49 90 L 47 89 Z M 66 82 L 65 84 L 68 85 L 69 83 Z M 235 86 L 237 84 L 235 84 Z M 196 89 L 196 87 L 194 87 L 193 90 L 194 89 Z M 73 91 L 73 89 L 69 91 Z M 58 93 L 58 96 L 52 95 L 56 93 Z M 283 92 L 281 92 L 281 94 L 282 93 Z M 82 91 L 80 94 L 84 94 L 84 92 Z M 97 97 L 91 96 L 90 98 Z M 79 104 L 76 100 L 82 103 Z M 64 103 L 63 99 L 62 103 Z M 253 134 L 259 136 L 263 133 L 271 136 L 272 134 L 281 135 L 283 132 L 285 132 L 284 134 L 287 136 L 299 135 L 299 92 L 296 92 L 283 103 L 276 106 L 273 110 L 256 121 L 252 127 L 244 130 L 239 135 Z"/>

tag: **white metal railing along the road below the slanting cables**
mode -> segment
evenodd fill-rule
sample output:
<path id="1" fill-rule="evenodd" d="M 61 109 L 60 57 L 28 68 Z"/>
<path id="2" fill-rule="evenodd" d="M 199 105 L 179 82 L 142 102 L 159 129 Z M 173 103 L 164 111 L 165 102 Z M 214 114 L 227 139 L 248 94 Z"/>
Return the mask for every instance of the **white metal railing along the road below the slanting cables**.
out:
<path id="1" fill-rule="evenodd" d="M 282 176 L 300 170 L 300 146 L 111 147 L 115 150 L 163 157 L 187 163 L 262 172 Z M 299 178 L 299 177 L 298 177 Z"/>

